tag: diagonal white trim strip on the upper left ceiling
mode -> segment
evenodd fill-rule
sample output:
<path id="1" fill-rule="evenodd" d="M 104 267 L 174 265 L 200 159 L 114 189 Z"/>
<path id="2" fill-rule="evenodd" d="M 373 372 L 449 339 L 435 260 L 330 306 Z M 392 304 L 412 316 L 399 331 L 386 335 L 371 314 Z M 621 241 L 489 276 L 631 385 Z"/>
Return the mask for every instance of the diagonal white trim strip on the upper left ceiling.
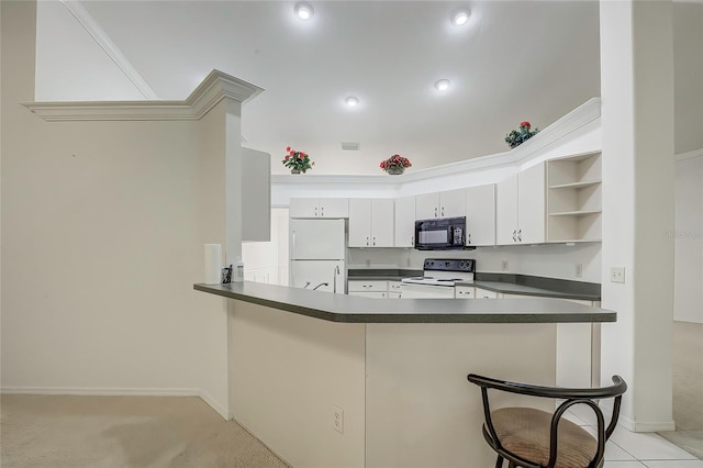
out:
<path id="1" fill-rule="evenodd" d="M 90 34 L 90 36 L 98 43 L 108 57 L 118 66 L 120 71 L 136 87 L 136 89 L 146 99 L 159 99 L 158 94 L 152 89 L 146 80 L 140 75 L 140 73 L 132 66 L 130 60 L 122 54 L 120 47 L 118 47 L 108 34 L 100 27 L 98 22 L 91 16 L 90 13 L 83 8 L 78 0 L 59 0 L 66 9 L 74 15 L 76 21 Z"/>

